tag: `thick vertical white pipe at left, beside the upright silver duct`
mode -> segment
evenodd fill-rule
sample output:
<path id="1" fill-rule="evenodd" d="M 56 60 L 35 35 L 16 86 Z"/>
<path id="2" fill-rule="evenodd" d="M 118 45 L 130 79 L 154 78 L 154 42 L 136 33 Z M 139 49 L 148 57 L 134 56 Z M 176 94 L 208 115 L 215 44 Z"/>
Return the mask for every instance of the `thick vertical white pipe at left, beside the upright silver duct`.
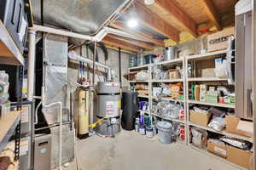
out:
<path id="1" fill-rule="evenodd" d="M 35 53 L 36 53 L 36 32 L 29 31 L 29 51 L 27 66 L 27 100 L 33 100 L 34 94 L 34 71 L 35 71 Z"/>

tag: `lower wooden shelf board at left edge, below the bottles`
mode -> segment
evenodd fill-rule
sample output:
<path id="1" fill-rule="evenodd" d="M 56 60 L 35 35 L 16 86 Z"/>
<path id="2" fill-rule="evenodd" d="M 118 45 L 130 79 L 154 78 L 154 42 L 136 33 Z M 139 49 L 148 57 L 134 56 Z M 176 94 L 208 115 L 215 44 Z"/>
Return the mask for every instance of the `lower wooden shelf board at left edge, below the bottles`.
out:
<path id="1" fill-rule="evenodd" d="M 9 139 L 15 133 L 15 127 L 20 122 L 20 111 L 11 111 L 0 119 L 0 152 L 8 144 Z"/>

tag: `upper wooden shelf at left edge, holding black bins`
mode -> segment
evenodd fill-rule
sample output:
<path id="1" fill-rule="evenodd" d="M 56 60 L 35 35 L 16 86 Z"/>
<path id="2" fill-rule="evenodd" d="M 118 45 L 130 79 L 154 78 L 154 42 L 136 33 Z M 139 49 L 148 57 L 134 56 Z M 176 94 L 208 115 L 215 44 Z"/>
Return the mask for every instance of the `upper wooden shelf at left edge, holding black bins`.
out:
<path id="1" fill-rule="evenodd" d="M 0 20 L 0 63 L 6 65 L 24 65 L 24 57 L 14 40 Z"/>

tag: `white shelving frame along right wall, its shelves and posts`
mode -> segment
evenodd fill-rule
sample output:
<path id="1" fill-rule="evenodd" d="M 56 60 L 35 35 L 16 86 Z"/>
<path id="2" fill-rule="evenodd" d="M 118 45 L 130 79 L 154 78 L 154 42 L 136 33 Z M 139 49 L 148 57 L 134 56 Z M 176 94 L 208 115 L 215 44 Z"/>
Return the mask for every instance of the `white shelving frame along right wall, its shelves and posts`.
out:
<path id="1" fill-rule="evenodd" d="M 129 71 L 138 71 L 140 69 L 145 69 L 148 68 L 148 73 L 149 73 L 149 77 L 148 77 L 148 88 L 149 90 L 149 95 L 145 96 L 145 95 L 141 95 L 139 94 L 138 97 L 139 98 L 147 98 L 148 99 L 148 103 L 150 105 L 150 108 L 152 110 L 152 102 L 153 100 L 169 100 L 169 101 L 177 101 L 177 102 L 181 102 L 184 105 L 184 110 L 185 110 L 185 119 L 184 120 L 177 120 L 177 119 L 172 119 L 172 118 L 168 118 L 168 117 L 164 117 L 164 116 L 159 116 L 155 113 L 153 113 L 151 110 L 150 111 L 142 111 L 145 114 L 152 116 L 157 116 L 160 117 L 161 119 L 164 120 L 168 120 L 168 121 L 172 121 L 172 122 L 180 122 L 183 123 L 185 126 L 185 133 L 186 133 L 186 140 L 183 141 L 177 141 L 180 142 L 182 144 L 186 144 L 187 147 L 192 148 L 194 150 L 198 150 L 201 151 L 202 153 L 205 153 L 208 156 L 212 156 L 215 157 L 218 160 L 222 160 L 225 161 L 227 163 L 229 163 L 230 165 L 234 166 L 234 167 L 239 167 L 240 169 L 244 169 L 243 167 L 237 166 L 236 164 L 227 161 L 226 159 L 220 157 L 220 156 L 216 156 L 214 154 L 212 154 L 211 152 L 208 152 L 207 150 L 203 150 L 200 148 L 195 147 L 194 145 L 189 143 L 189 127 L 194 126 L 194 127 L 199 127 L 201 129 L 207 130 L 209 132 L 212 133 L 218 133 L 224 136 L 228 136 L 228 137 L 232 137 L 232 138 L 236 138 L 236 139 L 243 139 L 246 140 L 248 142 L 253 143 L 253 138 L 248 138 L 246 136 L 242 136 L 242 135 L 238 135 L 235 133 L 228 133 L 225 130 L 224 131 L 216 131 L 210 127 L 203 127 L 200 125 L 196 125 L 194 123 L 189 122 L 189 105 L 210 105 L 210 106 L 217 106 L 217 107 L 222 107 L 222 108 L 230 108 L 230 109 L 235 109 L 236 106 L 235 105 L 229 105 L 229 104 L 221 104 L 221 103 L 208 103 L 208 102 L 201 102 L 201 101 L 195 101 L 195 100 L 191 100 L 189 99 L 189 82 L 227 82 L 228 78 L 218 78 L 218 77 L 188 77 L 188 62 L 195 60 L 207 60 L 207 59 L 214 59 L 219 57 L 220 55 L 224 55 L 227 54 L 229 51 L 228 50 L 222 50 L 222 51 L 217 51 L 217 52 L 212 52 L 212 53 L 206 53 L 206 54 L 195 54 L 195 55 L 189 55 L 189 56 L 184 56 L 182 58 L 179 59 L 173 59 L 171 61 L 162 61 L 160 63 L 156 63 L 156 64 L 151 64 L 151 65 L 142 65 L 142 66 L 137 66 L 137 67 L 133 67 L 130 68 Z M 172 79 L 172 80 L 152 80 L 152 67 L 155 65 L 177 65 L 177 64 L 183 64 L 183 78 L 181 79 Z M 137 81 L 130 81 L 130 82 L 137 82 Z M 152 96 L 152 87 L 153 87 L 153 83 L 157 83 L 157 82 L 183 82 L 183 90 L 184 90 L 184 99 L 172 99 L 172 98 L 168 98 L 168 97 L 162 97 L 162 96 Z"/>

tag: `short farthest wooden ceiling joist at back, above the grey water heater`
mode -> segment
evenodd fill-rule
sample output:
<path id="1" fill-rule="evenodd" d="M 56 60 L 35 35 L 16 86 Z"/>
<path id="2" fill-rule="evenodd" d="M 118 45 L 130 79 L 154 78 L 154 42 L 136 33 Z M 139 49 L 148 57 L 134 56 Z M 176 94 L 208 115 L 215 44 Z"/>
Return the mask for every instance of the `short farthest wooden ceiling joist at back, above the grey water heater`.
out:
<path id="1" fill-rule="evenodd" d="M 138 48 L 137 46 L 131 45 L 127 42 L 121 42 L 117 39 L 114 39 L 113 37 L 104 37 L 102 42 L 117 48 L 123 48 L 131 52 L 137 52 L 137 53 L 142 52 L 142 48 Z"/>

